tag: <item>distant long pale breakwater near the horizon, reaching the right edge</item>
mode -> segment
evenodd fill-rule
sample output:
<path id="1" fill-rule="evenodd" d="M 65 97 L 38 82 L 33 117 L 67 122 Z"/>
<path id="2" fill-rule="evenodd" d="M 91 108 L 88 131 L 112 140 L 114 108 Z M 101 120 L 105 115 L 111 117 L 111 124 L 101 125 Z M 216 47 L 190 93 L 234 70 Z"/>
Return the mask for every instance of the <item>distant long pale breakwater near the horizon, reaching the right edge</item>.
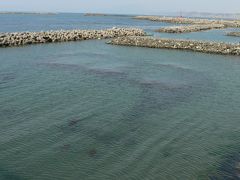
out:
<path id="1" fill-rule="evenodd" d="M 240 27 L 240 20 L 209 20 L 196 18 L 182 18 L 182 17 L 161 17 L 161 16 L 135 16 L 134 19 L 159 21 L 176 24 L 222 24 L 225 27 Z"/>

